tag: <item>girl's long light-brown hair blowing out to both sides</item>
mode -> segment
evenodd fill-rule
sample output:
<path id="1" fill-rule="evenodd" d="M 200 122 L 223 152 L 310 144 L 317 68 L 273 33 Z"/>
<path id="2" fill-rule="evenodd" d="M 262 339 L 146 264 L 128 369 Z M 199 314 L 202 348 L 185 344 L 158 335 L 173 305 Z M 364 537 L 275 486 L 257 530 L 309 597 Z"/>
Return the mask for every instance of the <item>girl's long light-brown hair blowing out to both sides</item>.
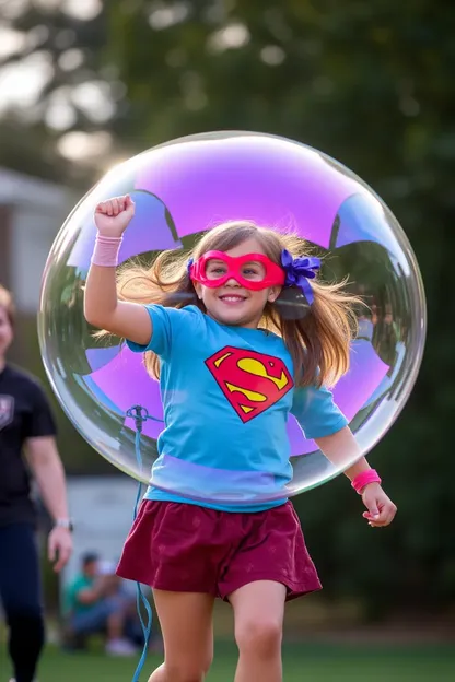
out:
<path id="1" fill-rule="evenodd" d="M 281 251 L 305 255 L 305 242 L 292 234 L 280 234 L 247 221 L 228 222 L 205 233 L 191 254 L 161 252 L 151 267 L 126 263 L 118 272 L 118 297 L 135 303 L 154 303 L 182 308 L 196 305 L 203 313 L 187 271 L 188 258 L 197 260 L 210 250 L 229 251 L 255 238 L 265 254 L 281 266 Z M 306 247 L 307 249 L 307 247 Z M 349 368 L 350 343 L 355 330 L 353 306 L 360 299 L 342 291 L 345 282 L 327 284 L 312 280 L 314 302 L 303 319 L 287 319 L 277 304 L 267 304 L 260 326 L 280 334 L 291 354 L 298 386 L 332 386 Z M 145 367 L 159 378 L 160 361 L 145 353 Z"/>

